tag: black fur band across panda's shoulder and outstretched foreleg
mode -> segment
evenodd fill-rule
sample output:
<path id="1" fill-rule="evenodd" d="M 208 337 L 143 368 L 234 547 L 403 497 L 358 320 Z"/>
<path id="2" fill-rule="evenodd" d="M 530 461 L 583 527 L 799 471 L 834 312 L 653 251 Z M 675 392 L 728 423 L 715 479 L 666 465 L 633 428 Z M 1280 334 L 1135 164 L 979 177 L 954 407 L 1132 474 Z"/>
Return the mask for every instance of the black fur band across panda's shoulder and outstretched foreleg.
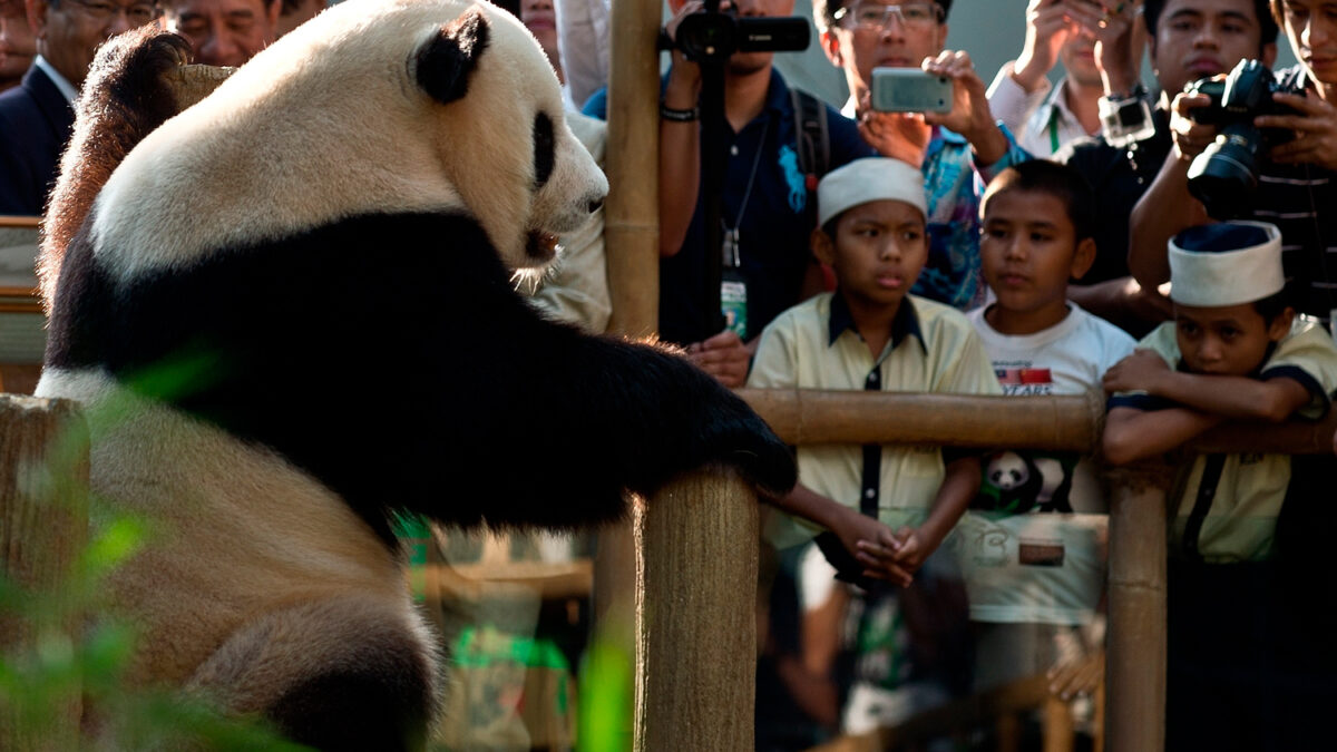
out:
<path id="1" fill-rule="evenodd" d="M 386 543 L 393 508 L 570 527 L 711 462 L 794 482 L 786 447 L 685 359 L 543 318 L 464 214 L 353 217 L 130 280 L 92 250 L 79 236 L 67 256 L 48 365 L 171 385 L 151 396 L 279 452 Z"/>

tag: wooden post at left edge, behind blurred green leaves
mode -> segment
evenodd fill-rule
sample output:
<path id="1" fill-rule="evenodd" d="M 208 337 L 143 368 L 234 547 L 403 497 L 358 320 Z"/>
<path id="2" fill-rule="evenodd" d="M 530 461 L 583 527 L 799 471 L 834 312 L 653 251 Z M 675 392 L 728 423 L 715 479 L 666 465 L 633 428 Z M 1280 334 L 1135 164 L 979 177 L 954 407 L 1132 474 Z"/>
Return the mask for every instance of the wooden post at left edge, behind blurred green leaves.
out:
<path id="1" fill-rule="evenodd" d="M 49 649 L 80 638 L 79 612 L 62 602 L 88 534 L 87 444 L 62 434 L 79 427 L 71 401 L 0 395 L 0 574 L 41 606 L 24 602 L 0 613 L 0 649 L 11 666 L 29 660 L 39 644 Z M 44 708 L 0 698 L 0 749 L 76 749 L 79 692 L 70 686 Z"/>

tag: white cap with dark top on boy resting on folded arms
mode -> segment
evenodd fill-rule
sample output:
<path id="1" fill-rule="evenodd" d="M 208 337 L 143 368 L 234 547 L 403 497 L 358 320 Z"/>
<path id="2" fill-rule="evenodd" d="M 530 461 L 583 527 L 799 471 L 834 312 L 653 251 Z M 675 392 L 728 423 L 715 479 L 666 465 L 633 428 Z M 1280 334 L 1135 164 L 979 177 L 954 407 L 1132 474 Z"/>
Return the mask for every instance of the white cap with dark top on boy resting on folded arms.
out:
<path id="1" fill-rule="evenodd" d="M 1170 241 L 1170 300 L 1191 306 L 1239 305 L 1286 286 L 1281 230 L 1267 222 L 1198 225 Z"/>

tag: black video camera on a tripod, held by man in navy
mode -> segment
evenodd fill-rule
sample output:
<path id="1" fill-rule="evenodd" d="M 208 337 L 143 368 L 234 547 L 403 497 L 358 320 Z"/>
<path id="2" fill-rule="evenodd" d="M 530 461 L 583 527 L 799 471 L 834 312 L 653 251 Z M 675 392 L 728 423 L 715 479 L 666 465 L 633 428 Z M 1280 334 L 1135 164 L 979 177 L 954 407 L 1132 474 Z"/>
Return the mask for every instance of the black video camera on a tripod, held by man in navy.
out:
<path id="1" fill-rule="evenodd" d="M 801 52 L 808 50 L 808 19 L 801 16 L 739 17 L 734 9 L 707 4 L 678 24 L 677 39 L 660 32 L 659 50 L 677 47 L 694 63 L 723 63 L 734 52 Z"/>

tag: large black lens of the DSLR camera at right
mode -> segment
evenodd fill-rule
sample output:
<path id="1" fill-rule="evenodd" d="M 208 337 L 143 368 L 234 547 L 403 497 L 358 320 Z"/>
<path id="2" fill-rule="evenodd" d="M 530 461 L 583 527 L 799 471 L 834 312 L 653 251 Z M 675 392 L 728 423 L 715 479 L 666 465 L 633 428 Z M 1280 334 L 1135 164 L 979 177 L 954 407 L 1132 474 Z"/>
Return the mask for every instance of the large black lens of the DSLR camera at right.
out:
<path id="1" fill-rule="evenodd" d="M 1235 123 L 1194 158 L 1189 166 L 1189 193 L 1214 219 L 1231 219 L 1250 210 L 1258 186 L 1258 128 Z"/>

